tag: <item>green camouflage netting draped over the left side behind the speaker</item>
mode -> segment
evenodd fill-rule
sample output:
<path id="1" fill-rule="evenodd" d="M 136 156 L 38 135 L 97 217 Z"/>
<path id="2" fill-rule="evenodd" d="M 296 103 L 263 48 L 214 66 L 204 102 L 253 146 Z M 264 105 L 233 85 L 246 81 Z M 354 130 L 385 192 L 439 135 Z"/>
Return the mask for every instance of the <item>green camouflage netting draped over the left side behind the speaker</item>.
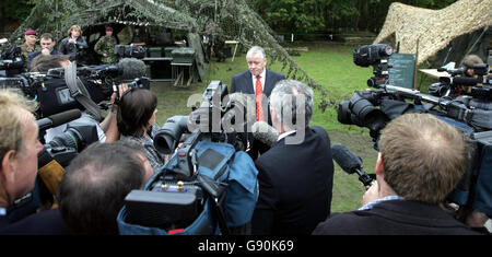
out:
<path id="1" fill-rule="evenodd" d="M 320 108 L 336 106 L 335 100 L 296 65 L 280 46 L 273 31 L 247 4 L 246 0 L 38 0 L 26 21 L 12 34 L 19 38 L 25 30 L 55 32 L 61 39 L 67 30 L 107 23 L 156 25 L 209 34 L 238 40 L 243 46 L 262 46 L 270 63 L 280 61 L 286 78 L 306 82 L 320 93 Z"/>

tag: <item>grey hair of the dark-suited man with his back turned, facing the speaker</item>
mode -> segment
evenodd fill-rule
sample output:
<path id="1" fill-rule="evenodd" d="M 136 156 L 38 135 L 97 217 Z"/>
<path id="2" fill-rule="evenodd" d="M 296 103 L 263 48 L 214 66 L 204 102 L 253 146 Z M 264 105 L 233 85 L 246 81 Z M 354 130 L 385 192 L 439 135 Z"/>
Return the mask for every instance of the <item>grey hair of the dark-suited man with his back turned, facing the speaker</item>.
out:
<path id="1" fill-rule="evenodd" d="M 313 90 L 295 80 L 277 82 L 270 95 L 270 108 L 285 130 L 304 129 L 313 116 Z"/>

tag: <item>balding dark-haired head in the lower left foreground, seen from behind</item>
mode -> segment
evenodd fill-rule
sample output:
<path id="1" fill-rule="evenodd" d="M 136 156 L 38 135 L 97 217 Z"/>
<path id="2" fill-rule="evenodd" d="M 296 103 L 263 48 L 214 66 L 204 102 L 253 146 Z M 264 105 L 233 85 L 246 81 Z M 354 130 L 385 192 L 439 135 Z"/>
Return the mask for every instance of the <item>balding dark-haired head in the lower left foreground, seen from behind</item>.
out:
<path id="1" fill-rule="evenodd" d="M 59 185 L 61 217 L 73 234 L 117 235 L 116 217 L 125 197 L 152 174 L 137 143 L 91 144 L 72 160 Z"/>

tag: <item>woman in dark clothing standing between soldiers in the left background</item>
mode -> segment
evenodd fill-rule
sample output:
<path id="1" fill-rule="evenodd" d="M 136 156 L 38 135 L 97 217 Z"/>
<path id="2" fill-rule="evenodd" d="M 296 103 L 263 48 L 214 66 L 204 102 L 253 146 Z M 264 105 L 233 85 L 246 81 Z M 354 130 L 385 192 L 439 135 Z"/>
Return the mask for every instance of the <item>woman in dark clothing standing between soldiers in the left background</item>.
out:
<path id="1" fill-rule="evenodd" d="M 61 54 L 69 55 L 71 61 L 84 65 L 83 56 L 89 45 L 82 36 L 82 28 L 79 25 L 72 25 L 67 33 L 68 36 L 60 43 Z"/>

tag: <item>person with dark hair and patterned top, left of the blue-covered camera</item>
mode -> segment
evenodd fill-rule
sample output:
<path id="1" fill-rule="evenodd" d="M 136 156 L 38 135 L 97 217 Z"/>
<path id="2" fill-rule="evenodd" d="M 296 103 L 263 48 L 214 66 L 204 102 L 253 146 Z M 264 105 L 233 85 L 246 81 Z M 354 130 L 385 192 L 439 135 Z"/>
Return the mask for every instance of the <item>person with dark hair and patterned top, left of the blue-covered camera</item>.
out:
<path id="1" fill-rule="evenodd" d="M 117 126 L 120 140 L 137 142 L 144 148 L 145 156 L 154 170 L 165 163 L 154 147 L 153 138 L 157 131 L 155 114 L 157 97 L 150 90 L 132 87 L 121 95 L 117 110 Z"/>

